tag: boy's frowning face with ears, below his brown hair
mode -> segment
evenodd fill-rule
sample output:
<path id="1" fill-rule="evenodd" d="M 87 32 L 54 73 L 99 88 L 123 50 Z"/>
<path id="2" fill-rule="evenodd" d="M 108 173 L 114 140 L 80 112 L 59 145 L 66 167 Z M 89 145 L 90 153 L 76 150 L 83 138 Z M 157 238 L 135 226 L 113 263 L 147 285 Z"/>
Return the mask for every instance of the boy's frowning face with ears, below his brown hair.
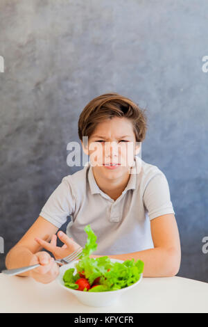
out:
<path id="1" fill-rule="evenodd" d="M 96 126 L 88 138 L 88 149 L 83 147 L 83 150 L 99 174 L 114 179 L 130 173 L 139 145 L 136 143 L 132 122 L 128 118 L 114 117 Z M 111 166 L 112 164 L 116 166 Z"/>

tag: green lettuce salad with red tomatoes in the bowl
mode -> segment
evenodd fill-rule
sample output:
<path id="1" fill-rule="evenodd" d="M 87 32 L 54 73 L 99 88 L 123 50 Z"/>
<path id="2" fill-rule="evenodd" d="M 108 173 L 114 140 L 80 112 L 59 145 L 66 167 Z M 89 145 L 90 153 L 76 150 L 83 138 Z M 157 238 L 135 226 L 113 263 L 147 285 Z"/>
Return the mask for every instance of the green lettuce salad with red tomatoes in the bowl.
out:
<path id="1" fill-rule="evenodd" d="M 135 259 L 121 262 L 111 262 L 107 256 L 92 258 L 91 253 L 96 250 L 96 235 L 90 225 L 85 227 L 87 242 L 75 269 L 64 272 L 64 285 L 71 289 L 84 292 L 106 292 L 128 287 L 141 277 L 144 262 Z"/>

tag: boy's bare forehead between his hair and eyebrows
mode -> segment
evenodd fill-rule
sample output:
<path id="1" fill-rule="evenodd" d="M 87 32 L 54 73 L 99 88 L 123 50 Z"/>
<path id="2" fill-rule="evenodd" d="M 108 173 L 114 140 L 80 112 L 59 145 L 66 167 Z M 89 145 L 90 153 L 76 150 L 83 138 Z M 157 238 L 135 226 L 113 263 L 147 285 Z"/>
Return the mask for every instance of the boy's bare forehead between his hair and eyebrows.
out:
<path id="1" fill-rule="evenodd" d="M 132 137 L 134 136 L 132 122 L 128 118 L 114 117 L 103 120 L 96 125 L 92 137 Z"/>

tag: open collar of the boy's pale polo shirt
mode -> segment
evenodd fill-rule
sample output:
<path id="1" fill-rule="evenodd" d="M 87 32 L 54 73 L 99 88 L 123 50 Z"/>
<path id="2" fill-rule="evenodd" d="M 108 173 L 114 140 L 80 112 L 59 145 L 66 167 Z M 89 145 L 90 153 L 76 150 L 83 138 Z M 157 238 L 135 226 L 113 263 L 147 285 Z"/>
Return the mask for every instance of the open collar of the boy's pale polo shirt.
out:
<path id="1" fill-rule="evenodd" d="M 136 172 L 135 169 L 138 168 L 138 164 L 139 164 L 138 157 L 135 156 L 135 166 L 131 168 L 130 179 L 128 180 L 127 186 L 125 186 L 123 193 L 125 193 L 126 191 L 128 191 L 130 189 L 137 188 L 137 173 L 135 173 Z M 138 169 L 137 169 L 137 171 L 138 171 Z M 98 187 L 98 184 L 96 183 L 96 180 L 94 178 L 94 173 L 93 173 L 92 165 L 90 164 L 90 161 L 89 161 L 88 181 L 89 181 L 90 191 L 92 194 L 102 192 L 101 189 Z"/>

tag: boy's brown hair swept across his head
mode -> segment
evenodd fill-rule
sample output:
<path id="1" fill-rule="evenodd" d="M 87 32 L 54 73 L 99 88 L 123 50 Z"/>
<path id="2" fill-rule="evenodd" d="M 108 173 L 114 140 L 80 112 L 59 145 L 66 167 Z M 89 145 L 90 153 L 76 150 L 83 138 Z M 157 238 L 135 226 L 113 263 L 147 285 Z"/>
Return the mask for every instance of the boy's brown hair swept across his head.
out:
<path id="1" fill-rule="evenodd" d="M 144 140 L 147 129 L 145 109 L 118 93 L 106 93 L 92 99 L 80 113 L 78 120 L 78 135 L 81 141 L 83 136 L 88 138 L 94 132 L 99 122 L 114 116 L 125 117 L 131 120 L 137 142 Z"/>

